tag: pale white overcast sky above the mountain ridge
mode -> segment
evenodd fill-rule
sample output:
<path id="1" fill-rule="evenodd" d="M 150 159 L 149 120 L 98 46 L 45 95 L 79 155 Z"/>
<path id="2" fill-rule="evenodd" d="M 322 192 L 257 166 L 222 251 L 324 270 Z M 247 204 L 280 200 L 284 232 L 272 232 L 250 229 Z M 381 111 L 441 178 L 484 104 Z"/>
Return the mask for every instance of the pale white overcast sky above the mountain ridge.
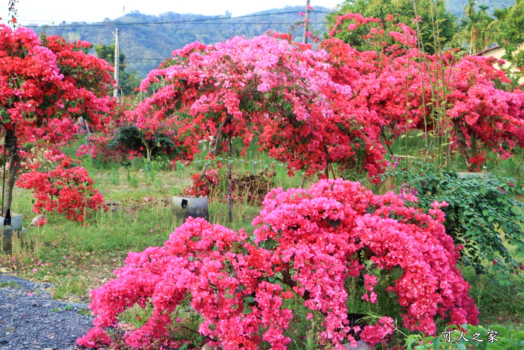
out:
<path id="1" fill-rule="evenodd" d="M 334 7 L 343 0 L 315 0 L 311 6 Z M 305 0 L 19 0 L 17 3 L 18 21 L 27 23 L 60 23 L 73 21 L 99 22 L 104 18 L 118 18 L 133 10 L 148 15 L 165 12 L 193 13 L 202 15 L 223 15 L 226 10 L 233 17 L 242 16 L 271 8 L 304 5 Z M 5 23 L 8 19 L 7 1 L 1 2 L 0 17 Z"/>

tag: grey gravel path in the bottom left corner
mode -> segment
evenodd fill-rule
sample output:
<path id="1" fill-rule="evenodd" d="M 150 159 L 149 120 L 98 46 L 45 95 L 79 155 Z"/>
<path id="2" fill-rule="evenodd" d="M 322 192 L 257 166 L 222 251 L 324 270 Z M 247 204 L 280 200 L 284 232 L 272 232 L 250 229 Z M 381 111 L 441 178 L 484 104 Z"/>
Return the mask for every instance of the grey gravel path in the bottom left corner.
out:
<path id="1" fill-rule="evenodd" d="M 49 287 L 0 273 L 0 349 L 77 348 L 93 317 L 78 313 L 85 304 L 52 300 Z"/>

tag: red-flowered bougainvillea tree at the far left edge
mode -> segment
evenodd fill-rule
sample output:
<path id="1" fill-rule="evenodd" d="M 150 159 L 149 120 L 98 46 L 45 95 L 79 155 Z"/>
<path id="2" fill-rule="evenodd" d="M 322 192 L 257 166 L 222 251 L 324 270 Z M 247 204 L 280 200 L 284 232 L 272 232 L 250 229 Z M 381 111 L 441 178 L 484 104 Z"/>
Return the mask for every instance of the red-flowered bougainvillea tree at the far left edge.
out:
<path id="1" fill-rule="evenodd" d="M 26 145 L 55 147 L 78 133 L 82 117 L 93 128 L 103 123 L 113 82 L 104 60 L 86 54 L 89 43 L 42 37 L 27 28 L 0 27 L 0 124 L 9 150 L 7 201 Z"/>

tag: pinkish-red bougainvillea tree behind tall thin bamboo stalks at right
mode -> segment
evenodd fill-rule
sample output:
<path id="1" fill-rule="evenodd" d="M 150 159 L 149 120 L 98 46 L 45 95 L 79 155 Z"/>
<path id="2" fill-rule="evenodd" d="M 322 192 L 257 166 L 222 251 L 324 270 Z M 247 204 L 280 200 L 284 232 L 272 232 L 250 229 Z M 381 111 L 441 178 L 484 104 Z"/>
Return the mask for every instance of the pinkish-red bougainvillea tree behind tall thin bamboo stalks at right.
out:
<path id="1" fill-rule="evenodd" d="M 432 135 L 447 137 L 442 143 L 456 149 L 468 168 L 480 146 L 509 156 L 515 145 L 524 145 L 524 93 L 508 90 L 511 81 L 496 68 L 497 60 L 453 51 L 425 54 L 416 32 L 393 16 L 383 22 L 346 14 L 330 35 L 362 28 L 375 50 L 359 52 L 336 38 L 322 47 L 336 68 L 333 79 L 352 87 L 351 103 L 366 105 L 382 132 L 389 128 L 398 136 L 419 129 L 428 147 Z M 385 36 L 396 44 L 389 46 Z"/>

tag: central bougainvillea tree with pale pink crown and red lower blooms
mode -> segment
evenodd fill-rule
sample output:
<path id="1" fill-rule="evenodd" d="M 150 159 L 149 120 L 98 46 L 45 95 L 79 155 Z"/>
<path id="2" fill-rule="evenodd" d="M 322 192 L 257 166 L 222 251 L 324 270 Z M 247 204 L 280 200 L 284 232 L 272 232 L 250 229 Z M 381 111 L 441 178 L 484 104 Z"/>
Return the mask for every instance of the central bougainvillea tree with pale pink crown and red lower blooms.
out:
<path id="1" fill-rule="evenodd" d="M 176 125 L 178 139 L 192 153 L 199 151 L 199 141 L 211 141 L 212 155 L 225 150 L 232 137 L 242 137 L 247 146 L 258 136 L 260 149 L 291 171 L 349 164 L 361 145 L 368 150 L 375 145 L 376 157 L 364 157 L 366 165 L 375 166 L 382 160 L 381 144 L 377 135 L 359 128 L 356 112 L 339 112 L 352 90 L 331 79 L 328 54 L 289 39 L 234 37 L 173 51 L 141 85 L 164 87 L 130 115 L 139 128 Z"/>

